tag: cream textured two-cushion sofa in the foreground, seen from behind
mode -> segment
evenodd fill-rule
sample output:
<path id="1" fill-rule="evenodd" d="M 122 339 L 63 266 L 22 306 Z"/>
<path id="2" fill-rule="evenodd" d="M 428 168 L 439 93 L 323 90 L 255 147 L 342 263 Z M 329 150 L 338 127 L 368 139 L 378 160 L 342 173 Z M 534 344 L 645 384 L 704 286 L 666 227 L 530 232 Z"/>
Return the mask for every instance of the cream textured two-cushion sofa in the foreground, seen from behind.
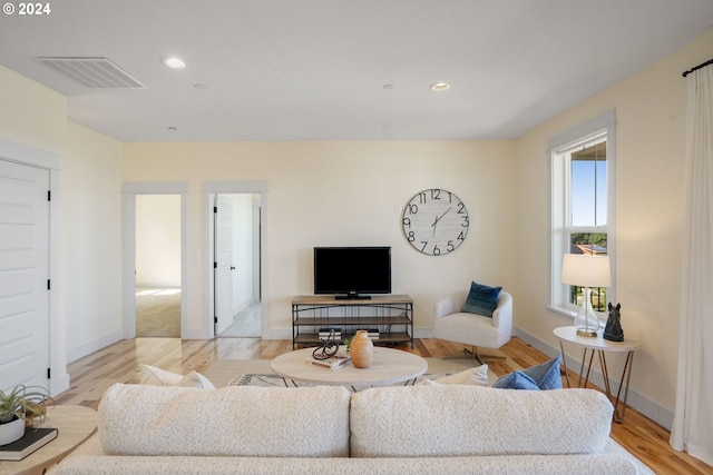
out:
<path id="1" fill-rule="evenodd" d="M 117 384 L 55 474 L 651 474 L 598 392 Z"/>

